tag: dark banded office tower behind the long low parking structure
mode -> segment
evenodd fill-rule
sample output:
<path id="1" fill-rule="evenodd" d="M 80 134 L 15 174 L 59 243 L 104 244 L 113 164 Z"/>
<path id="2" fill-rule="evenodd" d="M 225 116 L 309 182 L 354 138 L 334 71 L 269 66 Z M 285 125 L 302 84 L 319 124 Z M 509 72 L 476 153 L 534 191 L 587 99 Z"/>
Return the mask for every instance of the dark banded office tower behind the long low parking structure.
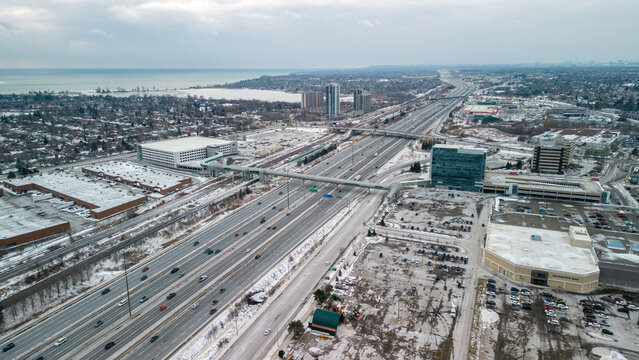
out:
<path id="1" fill-rule="evenodd" d="M 572 142 L 541 142 L 533 148 L 530 167 L 534 172 L 563 174 L 572 163 L 575 144 Z"/>

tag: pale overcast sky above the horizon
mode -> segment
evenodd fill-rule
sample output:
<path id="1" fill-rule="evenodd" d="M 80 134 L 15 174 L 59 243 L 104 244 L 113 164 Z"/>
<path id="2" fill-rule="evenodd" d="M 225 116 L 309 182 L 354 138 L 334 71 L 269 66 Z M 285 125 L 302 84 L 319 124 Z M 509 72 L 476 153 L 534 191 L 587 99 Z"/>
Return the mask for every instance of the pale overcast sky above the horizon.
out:
<path id="1" fill-rule="evenodd" d="M 639 60 L 636 0 L 0 0 L 0 68 Z"/>

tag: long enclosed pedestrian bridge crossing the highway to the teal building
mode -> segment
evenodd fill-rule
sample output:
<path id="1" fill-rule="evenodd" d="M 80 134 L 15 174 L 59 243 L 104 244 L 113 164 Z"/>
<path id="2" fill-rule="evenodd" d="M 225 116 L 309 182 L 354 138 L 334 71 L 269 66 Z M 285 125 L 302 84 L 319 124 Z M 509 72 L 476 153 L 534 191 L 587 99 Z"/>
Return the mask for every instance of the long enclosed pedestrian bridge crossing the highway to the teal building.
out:
<path id="1" fill-rule="evenodd" d="M 329 184 L 354 186 L 354 187 L 368 188 L 368 189 L 374 189 L 374 190 L 383 190 L 383 191 L 389 192 L 388 197 L 391 200 L 396 200 L 398 198 L 399 193 L 403 186 L 402 183 L 392 183 L 389 185 L 385 185 L 385 184 L 378 184 L 378 183 L 372 183 L 367 181 L 340 179 L 340 178 L 334 178 L 329 176 L 309 175 L 309 174 L 302 174 L 302 173 L 296 173 L 296 172 L 290 172 L 290 171 L 224 165 L 219 162 L 209 163 L 208 168 L 209 168 L 209 171 L 211 172 L 212 177 L 215 177 L 220 172 L 236 171 L 236 172 L 242 173 L 242 178 L 244 180 L 250 180 L 254 175 L 258 175 L 260 182 L 265 182 L 266 176 L 280 176 L 280 177 L 289 177 L 293 179 L 323 182 L 323 183 L 329 183 Z"/>

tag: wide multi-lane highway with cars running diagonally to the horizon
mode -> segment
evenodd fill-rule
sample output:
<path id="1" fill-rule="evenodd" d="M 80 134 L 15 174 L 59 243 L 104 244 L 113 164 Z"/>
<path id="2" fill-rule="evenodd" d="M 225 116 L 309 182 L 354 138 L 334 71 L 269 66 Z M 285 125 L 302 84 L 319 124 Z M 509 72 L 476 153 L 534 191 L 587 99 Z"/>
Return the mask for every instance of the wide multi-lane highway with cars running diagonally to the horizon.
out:
<path id="1" fill-rule="evenodd" d="M 455 90 L 457 94 L 464 94 L 465 91 L 463 88 Z M 422 122 L 424 117 L 449 111 L 449 107 L 426 106 L 393 127 L 426 128 L 429 124 Z M 406 143 L 408 140 L 392 139 L 380 146 L 380 142 L 369 138 L 357 146 L 356 164 L 351 166 L 351 153 L 346 151 L 322 162 L 311 173 L 329 176 L 341 173 L 342 177 L 364 173 L 365 178 L 375 172 L 374 166 L 379 167 L 388 161 Z M 375 152 L 380 155 L 373 156 Z M 306 184 L 310 185 L 308 182 Z M 135 350 L 134 357 L 167 356 L 201 324 L 213 318 L 208 315 L 213 308 L 213 300 L 218 301 L 217 308 L 221 309 L 223 304 L 234 299 L 264 270 L 362 191 L 344 189 L 342 200 L 322 200 L 321 192 L 319 195 L 308 194 L 301 185 L 301 181 L 292 181 L 289 185 L 292 192 L 291 204 L 298 204 L 291 210 L 286 209 L 286 187 L 281 187 L 201 231 L 190 241 L 179 244 L 144 264 L 149 267 L 145 273 L 149 279 L 140 280 L 140 270 L 132 273 L 129 285 L 132 287 L 133 319 L 127 319 L 128 306 L 117 306 L 117 302 L 125 296 L 124 281 L 118 279 L 108 285 L 110 292 L 103 295 L 98 290 L 14 337 L 10 342 L 16 347 L 3 355 L 22 358 L 31 353 L 32 358 L 59 358 L 85 349 L 87 341 L 91 341 L 94 346 L 87 356 L 106 358 L 126 349 L 138 335 L 145 335 L 143 340 L 146 340 L 157 333 L 160 340 L 154 343 L 144 341 Z M 323 191 L 335 191 L 335 188 L 328 186 Z M 290 214 L 286 215 L 287 213 Z M 261 221 L 262 216 L 266 219 L 264 223 Z M 267 225 L 271 228 L 276 226 L 277 229 L 266 230 Z M 195 241 L 200 244 L 193 246 Z M 260 245 L 264 245 L 264 248 L 255 250 Z M 213 250 L 219 248 L 221 252 L 206 255 L 203 253 L 206 247 Z M 252 250 L 247 253 L 247 248 Z M 261 257 L 256 260 L 257 254 Z M 171 274 L 169 271 L 173 267 L 180 269 Z M 229 273 L 221 281 L 216 281 L 224 272 Z M 180 278 L 182 274 L 184 277 Z M 200 283 L 198 278 L 202 274 L 206 274 L 208 279 Z M 204 287 L 209 287 L 209 291 L 205 292 Z M 226 291 L 220 293 L 221 288 Z M 202 294 L 198 294 L 198 291 Z M 165 300 L 169 292 L 176 292 L 177 295 Z M 139 298 L 142 296 L 147 296 L 149 300 L 140 303 Z M 190 309 L 191 303 L 195 301 L 190 300 L 193 297 L 199 298 L 197 301 L 200 303 L 195 310 Z M 168 308 L 160 311 L 160 305 L 167 305 Z M 180 306 L 183 307 L 180 316 L 175 316 Z M 94 327 L 98 320 L 102 321 L 102 325 Z M 166 321 L 166 324 L 162 324 L 164 328 L 146 334 L 146 330 L 154 329 L 163 321 Z M 67 342 L 59 347 L 53 346 L 55 339 L 63 335 Z M 115 345 L 104 350 L 104 345 L 111 341 Z M 0 344 L 4 345 L 6 343 Z"/>

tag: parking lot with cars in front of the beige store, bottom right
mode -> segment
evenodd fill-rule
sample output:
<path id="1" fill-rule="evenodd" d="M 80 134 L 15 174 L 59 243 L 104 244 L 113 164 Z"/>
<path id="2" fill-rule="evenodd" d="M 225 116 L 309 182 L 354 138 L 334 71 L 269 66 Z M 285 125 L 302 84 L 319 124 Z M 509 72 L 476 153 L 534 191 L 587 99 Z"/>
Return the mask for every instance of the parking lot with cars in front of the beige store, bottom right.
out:
<path id="1" fill-rule="evenodd" d="M 579 295 L 489 278 L 478 294 L 478 359 L 589 359 L 597 347 L 639 358 L 637 293 Z"/>

